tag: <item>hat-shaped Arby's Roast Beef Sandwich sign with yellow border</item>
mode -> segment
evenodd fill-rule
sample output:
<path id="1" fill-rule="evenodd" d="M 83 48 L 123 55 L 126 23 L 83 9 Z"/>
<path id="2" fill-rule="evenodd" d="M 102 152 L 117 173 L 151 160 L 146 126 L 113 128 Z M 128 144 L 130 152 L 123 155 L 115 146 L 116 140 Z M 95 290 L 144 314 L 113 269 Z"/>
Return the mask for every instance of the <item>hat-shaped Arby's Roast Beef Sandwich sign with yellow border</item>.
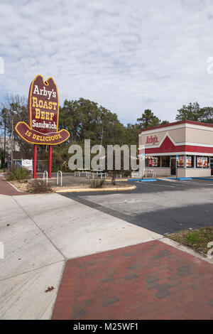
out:
<path id="1" fill-rule="evenodd" d="M 58 145 L 66 141 L 70 133 L 58 131 L 58 88 L 53 77 L 44 81 L 37 75 L 31 83 L 28 98 L 28 124 L 18 122 L 15 131 L 30 144 Z"/>

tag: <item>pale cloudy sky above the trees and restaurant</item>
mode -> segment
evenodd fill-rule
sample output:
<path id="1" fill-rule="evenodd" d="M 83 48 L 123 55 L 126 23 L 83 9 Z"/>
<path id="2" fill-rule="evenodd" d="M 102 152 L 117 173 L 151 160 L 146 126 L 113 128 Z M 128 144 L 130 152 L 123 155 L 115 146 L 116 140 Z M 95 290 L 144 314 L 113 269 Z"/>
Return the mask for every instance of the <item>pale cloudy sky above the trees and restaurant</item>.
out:
<path id="1" fill-rule="evenodd" d="M 0 0 L 0 99 L 52 76 L 60 104 L 92 99 L 121 122 L 213 106 L 212 0 Z"/>

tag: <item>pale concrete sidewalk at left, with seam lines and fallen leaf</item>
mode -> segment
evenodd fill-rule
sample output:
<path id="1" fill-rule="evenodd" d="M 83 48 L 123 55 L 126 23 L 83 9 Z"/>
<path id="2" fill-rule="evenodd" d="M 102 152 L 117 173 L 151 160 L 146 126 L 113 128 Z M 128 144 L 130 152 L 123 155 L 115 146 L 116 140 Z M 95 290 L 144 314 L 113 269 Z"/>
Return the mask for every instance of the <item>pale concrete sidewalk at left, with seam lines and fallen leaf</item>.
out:
<path id="1" fill-rule="evenodd" d="M 67 259 L 161 237 L 55 193 L 0 195 L 0 212 L 1 319 L 51 318 Z"/>

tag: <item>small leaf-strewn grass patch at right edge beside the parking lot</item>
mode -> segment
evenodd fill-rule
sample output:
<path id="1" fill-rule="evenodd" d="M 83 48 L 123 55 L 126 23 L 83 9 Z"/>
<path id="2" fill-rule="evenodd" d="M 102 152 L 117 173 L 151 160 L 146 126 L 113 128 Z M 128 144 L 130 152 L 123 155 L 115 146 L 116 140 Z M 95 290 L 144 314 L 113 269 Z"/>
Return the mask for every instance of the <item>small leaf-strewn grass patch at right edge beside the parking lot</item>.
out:
<path id="1" fill-rule="evenodd" d="M 174 235 L 168 235 L 168 238 L 180 242 L 180 244 L 185 244 L 202 255 L 206 255 L 210 249 L 207 247 L 208 242 L 213 242 L 213 226 L 202 227 L 198 230 L 180 231 Z"/>

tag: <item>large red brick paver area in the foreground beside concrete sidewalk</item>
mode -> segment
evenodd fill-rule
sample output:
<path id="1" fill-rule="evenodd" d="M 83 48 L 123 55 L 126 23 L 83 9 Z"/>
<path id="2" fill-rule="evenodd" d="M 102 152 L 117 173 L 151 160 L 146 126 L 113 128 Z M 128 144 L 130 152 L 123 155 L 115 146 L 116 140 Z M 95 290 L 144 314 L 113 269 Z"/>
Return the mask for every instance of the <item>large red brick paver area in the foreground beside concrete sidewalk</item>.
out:
<path id="1" fill-rule="evenodd" d="M 213 266 L 157 240 L 71 259 L 53 319 L 213 319 Z"/>

